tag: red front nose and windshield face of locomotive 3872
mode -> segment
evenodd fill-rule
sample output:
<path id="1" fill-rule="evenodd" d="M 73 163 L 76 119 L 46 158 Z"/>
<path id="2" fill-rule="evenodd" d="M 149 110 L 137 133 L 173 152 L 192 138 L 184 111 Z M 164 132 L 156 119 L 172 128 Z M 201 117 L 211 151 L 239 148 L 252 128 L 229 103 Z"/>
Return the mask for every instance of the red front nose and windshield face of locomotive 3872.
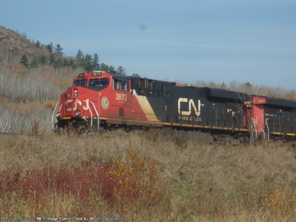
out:
<path id="1" fill-rule="evenodd" d="M 77 130 L 89 129 L 94 120 L 99 128 L 99 107 L 101 91 L 110 86 L 110 75 L 102 71 L 81 73 L 73 80 L 73 86 L 60 96 L 55 111 L 57 123 L 54 128 L 73 126 Z"/>

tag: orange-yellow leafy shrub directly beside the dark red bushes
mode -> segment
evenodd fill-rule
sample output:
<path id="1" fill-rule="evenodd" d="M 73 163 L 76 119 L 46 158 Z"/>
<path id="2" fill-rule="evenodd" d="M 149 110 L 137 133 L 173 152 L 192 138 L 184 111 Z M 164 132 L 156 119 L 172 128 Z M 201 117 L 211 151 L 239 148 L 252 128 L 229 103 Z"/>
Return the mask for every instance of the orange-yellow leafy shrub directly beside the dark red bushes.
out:
<path id="1" fill-rule="evenodd" d="M 141 155 L 138 149 L 133 150 L 130 142 L 126 149 L 127 160 L 123 162 L 118 155 L 114 167 L 107 176 L 118 181 L 114 191 L 117 192 L 118 205 L 126 210 L 141 208 L 152 203 L 159 194 L 158 170 L 155 160 Z"/>

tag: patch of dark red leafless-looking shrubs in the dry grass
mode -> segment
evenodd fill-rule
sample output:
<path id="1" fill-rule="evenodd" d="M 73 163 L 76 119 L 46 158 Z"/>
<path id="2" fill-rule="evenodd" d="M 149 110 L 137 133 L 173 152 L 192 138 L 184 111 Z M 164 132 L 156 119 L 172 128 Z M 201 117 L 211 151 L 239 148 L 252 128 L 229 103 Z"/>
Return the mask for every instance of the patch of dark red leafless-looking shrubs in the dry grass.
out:
<path id="1" fill-rule="evenodd" d="M 113 202 L 115 182 L 106 176 L 110 165 L 82 163 L 79 167 L 44 165 L 23 170 L 20 166 L 0 172 L 0 196 L 16 193 L 24 200 L 41 201 L 46 194 L 72 194 L 77 199 L 103 198 Z"/>

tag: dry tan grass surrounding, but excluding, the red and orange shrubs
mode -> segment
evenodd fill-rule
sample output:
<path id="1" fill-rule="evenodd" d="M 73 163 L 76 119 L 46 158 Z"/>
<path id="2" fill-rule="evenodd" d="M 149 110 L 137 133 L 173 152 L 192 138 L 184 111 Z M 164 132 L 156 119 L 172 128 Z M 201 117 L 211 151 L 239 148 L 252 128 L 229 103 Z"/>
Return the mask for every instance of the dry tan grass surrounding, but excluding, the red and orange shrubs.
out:
<path id="1" fill-rule="evenodd" d="M 123 163 L 128 163 L 126 149 L 131 144 L 140 155 L 162 167 L 158 176 L 162 198 L 151 206 L 126 212 L 106 198 L 89 196 L 87 201 L 78 200 L 73 192 L 46 193 L 38 208 L 12 192 L 1 194 L 0 213 L 112 214 L 127 221 L 295 221 L 295 144 L 263 141 L 252 147 L 209 145 L 205 139 L 163 134 L 119 130 L 93 136 L 1 135 L 1 172 L 16 165 L 22 170 L 42 170 L 52 165 L 70 172 L 90 160 L 114 163 L 118 154 Z"/>

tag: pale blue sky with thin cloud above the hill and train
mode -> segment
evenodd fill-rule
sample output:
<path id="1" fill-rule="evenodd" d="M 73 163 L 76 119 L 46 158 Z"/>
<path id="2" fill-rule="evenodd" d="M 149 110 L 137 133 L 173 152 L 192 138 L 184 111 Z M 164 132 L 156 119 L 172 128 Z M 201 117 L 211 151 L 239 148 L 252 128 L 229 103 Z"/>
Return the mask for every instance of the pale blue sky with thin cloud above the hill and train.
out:
<path id="1" fill-rule="evenodd" d="M 292 0 L 2 0 L 0 25 L 128 75 L 296 88 Z"/>

